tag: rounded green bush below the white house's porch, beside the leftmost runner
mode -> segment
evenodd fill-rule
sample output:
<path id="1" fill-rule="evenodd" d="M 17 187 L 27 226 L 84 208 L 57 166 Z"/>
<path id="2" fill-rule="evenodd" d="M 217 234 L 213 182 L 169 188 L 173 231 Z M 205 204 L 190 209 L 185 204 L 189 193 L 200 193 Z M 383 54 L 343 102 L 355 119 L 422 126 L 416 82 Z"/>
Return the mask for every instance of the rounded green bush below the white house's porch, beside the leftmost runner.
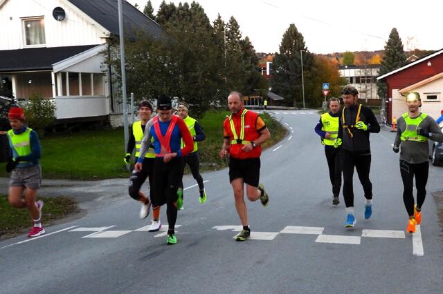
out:
<path id="1" fill-rule="evenodd" d="M 44 135 L 44 130 L 54 124 L 55 109 L 53 101 L 32 95 L 23 105 L 26 124 L 35 129 L 40 136 Z"/>

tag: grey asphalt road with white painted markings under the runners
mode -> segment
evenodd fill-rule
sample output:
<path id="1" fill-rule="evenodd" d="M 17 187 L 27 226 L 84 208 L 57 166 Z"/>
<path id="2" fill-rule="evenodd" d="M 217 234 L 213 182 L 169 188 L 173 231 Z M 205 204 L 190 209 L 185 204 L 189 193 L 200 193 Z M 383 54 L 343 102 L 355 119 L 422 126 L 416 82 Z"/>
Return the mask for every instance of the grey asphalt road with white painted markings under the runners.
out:
<path id="1" fill-rule="evenodd" d="M 204 173 L 206 204 L 197 187 L 186 190 L 174 246 L 164 233 L 143 231 L 150 217 L 138 219 L 138 203 L 108 182 L 114 196 L 94 200 L 84 217 L 47 227 L 38 239 L 0 242 L 0 293 L 442 293 L 443 239 L 431 193 L 443 190 L 443 168 L 431 166 L 421 233 L 404 233 L 394 133 L 371 134 L 374 213 L 363 218 L 355 175 L 357 223 L 345 229 L 343 198 L 332 206 L 314 133 L 318 114 L 283 111 L 274 115 L 290 133 L 262 155 L 270 204 L 247 203 L 253 239 L 233 239 L 239 219 L 226 169 Z M 184 184 L 195 181 L 187 176 Z"/>

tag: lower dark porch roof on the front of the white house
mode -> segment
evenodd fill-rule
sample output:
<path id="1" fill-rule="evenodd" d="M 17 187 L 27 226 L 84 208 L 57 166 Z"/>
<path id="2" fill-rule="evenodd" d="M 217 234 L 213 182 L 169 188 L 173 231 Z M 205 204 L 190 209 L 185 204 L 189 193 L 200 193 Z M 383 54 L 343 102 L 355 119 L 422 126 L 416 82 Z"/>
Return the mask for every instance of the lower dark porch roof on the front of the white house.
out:
<path id="1" fill-rule="evenodd" d="M 53 64 L 100 45 L 0 50 L 0 72 L 52 70 Z"/>

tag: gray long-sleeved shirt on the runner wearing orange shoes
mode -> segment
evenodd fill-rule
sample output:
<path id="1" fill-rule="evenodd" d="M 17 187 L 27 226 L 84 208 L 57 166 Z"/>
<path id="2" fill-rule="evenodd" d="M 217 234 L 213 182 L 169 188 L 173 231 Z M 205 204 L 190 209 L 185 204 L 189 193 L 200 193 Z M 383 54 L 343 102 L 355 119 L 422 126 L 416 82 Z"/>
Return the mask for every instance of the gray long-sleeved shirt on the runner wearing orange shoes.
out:
<path id="1" fill-rule="evenodd" d="M 419 119 L 416 117 L 415 119 Z M 442 130 L 431 116 L 427 116 L 419 124 L 431 137 L 429 139 L 437 142 L 443 141 Z M 400 160 L 404 160 L 409 164 L 421 164 L 429 159 L 428 142 L 418 141 L 401 141 L 400 136 L 406 130 L 406 121 L 401 116 L 397 120 L 397 135 L 395 136 L 394 144 L 400 146 Z M 400 145 L 401 144 L 401 145 Z"/>

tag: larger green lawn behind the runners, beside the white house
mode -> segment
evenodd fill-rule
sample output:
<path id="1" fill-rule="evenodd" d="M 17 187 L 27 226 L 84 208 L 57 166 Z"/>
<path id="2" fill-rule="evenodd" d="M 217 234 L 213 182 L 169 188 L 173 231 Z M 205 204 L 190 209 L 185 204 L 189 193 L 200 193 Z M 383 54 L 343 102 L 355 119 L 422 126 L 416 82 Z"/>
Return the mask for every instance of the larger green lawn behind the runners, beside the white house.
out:
<path id="1" fill-rule="evenodd" d="M 226 166 L 218 153 L 223 141 L 223 121 L 227 111 L 211 111 L 199 119 L 206 140 L 199 143 L 201 170 Z M 261 115 L 271 131 L 272 139 L 264 146 L 280 141 L 286 129 L 268 114 Z M 123 128 L 84 130 L 69 135 L 47 135 L 41 139 L 42 171 L 46 179 L 109 179 L 129 177 L 123 164 Z M 6 164 L 0 164 L 0 176 L 9 177 Z"/>

